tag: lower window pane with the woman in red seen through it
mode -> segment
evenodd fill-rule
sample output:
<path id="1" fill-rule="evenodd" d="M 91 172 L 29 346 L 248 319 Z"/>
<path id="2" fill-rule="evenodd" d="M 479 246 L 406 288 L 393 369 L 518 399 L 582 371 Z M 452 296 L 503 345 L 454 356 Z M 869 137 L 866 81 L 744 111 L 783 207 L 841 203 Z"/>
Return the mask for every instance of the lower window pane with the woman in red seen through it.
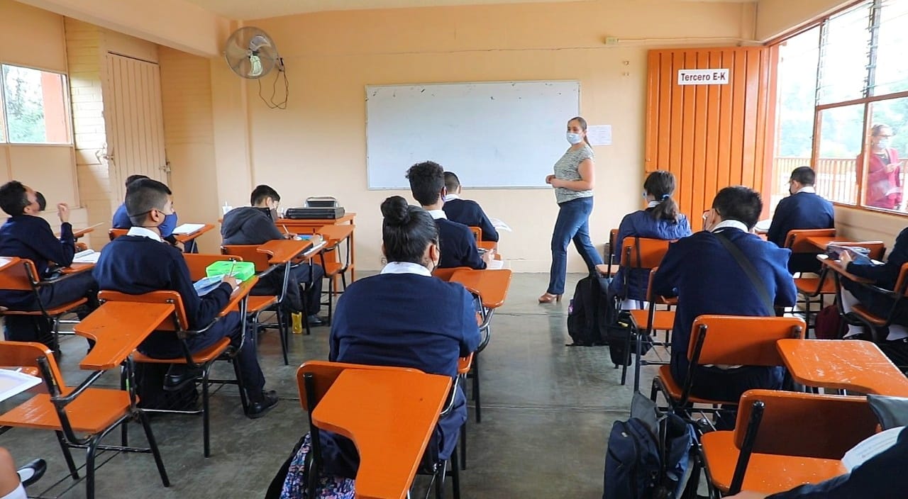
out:
<path id="1" fill-rule="evenodd" d="M 870 104 L 864 205 L 905 211 L 903 191 L 908 156 L 908 98 Z"/>

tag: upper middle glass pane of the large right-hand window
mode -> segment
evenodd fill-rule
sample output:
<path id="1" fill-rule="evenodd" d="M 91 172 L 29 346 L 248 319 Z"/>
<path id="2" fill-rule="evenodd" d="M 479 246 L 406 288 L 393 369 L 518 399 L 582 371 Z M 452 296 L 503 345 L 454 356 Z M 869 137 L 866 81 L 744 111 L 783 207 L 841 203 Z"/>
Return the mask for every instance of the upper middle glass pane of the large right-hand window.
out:
<path id="1" fill-rule="evenodd" d="M 834 15 L 825 24 L 820 55 L 820 103 L 864 97 L 870 57 L 870 4 Z"/>

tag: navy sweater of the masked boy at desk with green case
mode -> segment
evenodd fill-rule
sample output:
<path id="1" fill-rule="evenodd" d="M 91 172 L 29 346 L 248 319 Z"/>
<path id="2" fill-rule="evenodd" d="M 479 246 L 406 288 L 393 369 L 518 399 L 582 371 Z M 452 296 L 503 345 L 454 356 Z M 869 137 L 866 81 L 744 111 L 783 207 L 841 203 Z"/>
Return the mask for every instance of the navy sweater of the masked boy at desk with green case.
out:
<path id="1" fill-rule="evenodd" d="M 122 236 L 104 247 L 94 266 L 98 289 L 130 295 L 172 290 L 180 293 L 192 329 L 206 326 L 230 301 L 231 286 L 223 283 L 200 298 L 192 288 L 189 268 L 179 249 L 141 236 Z"/>

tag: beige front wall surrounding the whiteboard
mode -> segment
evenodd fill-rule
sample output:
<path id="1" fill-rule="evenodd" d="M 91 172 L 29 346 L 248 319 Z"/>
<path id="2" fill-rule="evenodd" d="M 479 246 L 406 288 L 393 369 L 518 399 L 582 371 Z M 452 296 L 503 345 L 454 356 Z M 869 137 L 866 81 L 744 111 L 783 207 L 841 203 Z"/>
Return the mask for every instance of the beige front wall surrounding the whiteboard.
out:
<path id="1" fill-rule="evenodd" d="M 269 110 L 259 100 L 257 84 L 247 84 L 252 180 L 275 186 L 284 206 L 311 195 L 336 196 L 347 210 L 359 214 L 360 268 L 378 269 L 379 205 L 395 192 L 366 189 L 365 85 L 579 80 L 581 113 L 592 124 L 614 127 L 614 145 L 596 148 L 598 183 L 590 229 L 601 244 L 621 217 L 641 204 L 647 47 L 703 36 L 713 38 L 686 42 L 731 44 L 717 38 L 749 36 L 752 8 L 600 1 L 388 9 L 255 21 L 250 24 L 269 32 L 284 57 L 290 105 L 287 111 Z M 662 41 L 606 46 L 607 35 Z M 263 86 L 270 88 L 272 77 Z M 519 126 L 514 123 L 515 130 Z M 503 131 L 489 130 L 497 132 Z M 401 175 L 408 166 L 400 165 Z M 231 199 L 242 199 L 245 193 L 236 191 Z M 409 192 L 396 193 L 411 199 Z M 514 229 L 500 242 L 513 269 L 548 270 L 549 238 L 558 213 L 551 191 L 466 194 Z M 569 258 L 570 269 L 582 269 L 576 252 L 571 250 Z"/>

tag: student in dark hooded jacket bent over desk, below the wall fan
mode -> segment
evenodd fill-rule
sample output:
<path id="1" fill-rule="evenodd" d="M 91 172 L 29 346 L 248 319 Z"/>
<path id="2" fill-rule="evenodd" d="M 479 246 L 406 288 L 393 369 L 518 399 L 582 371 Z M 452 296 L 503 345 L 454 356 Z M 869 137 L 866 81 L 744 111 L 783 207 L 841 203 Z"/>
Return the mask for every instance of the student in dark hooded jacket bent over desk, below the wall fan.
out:
<path id="1" fill-rule="evenodd" d="M 267 185 L 259 185 L 252 190 L 250 203 L 252 206 L 236 208 L 224 215 L 221 224 L 222 244 L 264 244 L 288 236 L 274 225 L 278 205 L 281 203 L 281 195 L 277 191 Z M 291 268 L 285 305 L 293 312 L 305 312 L 310 326 L 321 326 L 323 323 L 318 314 L 321 308 L 321 278 L 324 275 L 325 270 L 318 264 L 301 263 Z M 301 298 L 300 286 L 303 283 L 309 284 L 306 310 L 303 310 Z M 253 294 L 277 295 L 281 293 L 281 286 L 283 272 L 271 272 L 253 289 Z"/>

